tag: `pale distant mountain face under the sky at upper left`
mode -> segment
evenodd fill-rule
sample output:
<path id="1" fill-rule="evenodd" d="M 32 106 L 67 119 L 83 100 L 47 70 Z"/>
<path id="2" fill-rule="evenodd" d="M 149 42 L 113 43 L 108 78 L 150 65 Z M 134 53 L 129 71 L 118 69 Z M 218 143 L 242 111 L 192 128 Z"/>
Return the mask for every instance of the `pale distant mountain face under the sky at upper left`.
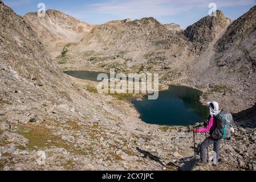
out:
<path id="1" fill-rule="evenodd" d="M 79 41 L 95 27 L 57 10 L 47 10 L 45 17 L 28 13 L 23 18 L 53 57 L 58 56 L 66 44 Z"/>

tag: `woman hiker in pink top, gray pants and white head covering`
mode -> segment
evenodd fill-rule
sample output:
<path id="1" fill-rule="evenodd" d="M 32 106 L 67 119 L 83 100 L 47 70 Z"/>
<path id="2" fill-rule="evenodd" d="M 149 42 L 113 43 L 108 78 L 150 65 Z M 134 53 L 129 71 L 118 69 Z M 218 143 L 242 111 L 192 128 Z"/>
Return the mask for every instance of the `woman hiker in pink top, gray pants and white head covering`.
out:
<path id="1" fill-rule="evenodd" d="M 213 151 L 216 152 L 216 164 L 220 156 L 221 139 L 214 139 L 212 137 L 212 133 L 217 127 L 216 116 L 220 113 L 221 110 L 219 110 L 218 102 L 208 102 L 208 104 L 210 106 L 210 119 L 208 121 L 208 125 L 204 129 L 193 128 L 194 133 L 206 133 L 210 131 L 210 137 L 206 138 L 200 145 L 201 161 L 197 163 L 197 166 L 205 166 L 208 164 L 206 159 L 206 148 L 211 144 L 213 144 Z"/>

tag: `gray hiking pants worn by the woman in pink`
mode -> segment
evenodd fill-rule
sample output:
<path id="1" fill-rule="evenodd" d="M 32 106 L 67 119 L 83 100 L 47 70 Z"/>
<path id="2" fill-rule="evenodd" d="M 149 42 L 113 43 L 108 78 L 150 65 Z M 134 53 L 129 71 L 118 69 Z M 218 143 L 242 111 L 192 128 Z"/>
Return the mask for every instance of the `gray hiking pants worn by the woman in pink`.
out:
<path id="1" fill-rule="evenodd" d="M 201 156 L 201 162 L 207 163 L 207 156 L 206 156 L 206 148 L 213 144 L 213 151 L 216 152 L 216 161 L 218 163 L 218 159 L 220 157 L 220 144 L 221 139 L 213 139 L 211 137 L 208 137 L 204 140 L 204 142 L 201 143 L 200 146 L 200 156 Z"/>

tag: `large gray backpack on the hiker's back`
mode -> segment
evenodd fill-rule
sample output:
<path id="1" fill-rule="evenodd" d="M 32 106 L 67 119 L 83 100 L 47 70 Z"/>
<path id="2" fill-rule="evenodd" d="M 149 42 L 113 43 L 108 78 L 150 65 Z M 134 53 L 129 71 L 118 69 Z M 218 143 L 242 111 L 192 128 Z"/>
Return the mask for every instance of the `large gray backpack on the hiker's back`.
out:
<path id="1" fill-rule="evenodd" d="M 229 111 L 221 111 L 216 119 L 217 127 L 213 131 L 212 137 L 215 139 L 229 139 L 231 137 L 230 127 L 233 123 L 232 114 Z"/>

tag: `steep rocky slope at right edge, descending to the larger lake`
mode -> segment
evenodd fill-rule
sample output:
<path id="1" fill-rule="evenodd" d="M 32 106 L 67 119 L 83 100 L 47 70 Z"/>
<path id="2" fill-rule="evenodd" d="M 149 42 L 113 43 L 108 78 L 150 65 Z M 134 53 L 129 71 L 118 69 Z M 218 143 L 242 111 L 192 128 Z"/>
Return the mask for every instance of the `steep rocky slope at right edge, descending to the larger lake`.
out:
<path id="1" fill-rule="evenodd" d="M 218 100 L 233 112 L 256 102 L 256 8 L 227 27 L 216 44 L 189 65 L 188 84 L 205 90 L 206 100 Z M 197 69 L 200 68 L 200 69 Z"/>

